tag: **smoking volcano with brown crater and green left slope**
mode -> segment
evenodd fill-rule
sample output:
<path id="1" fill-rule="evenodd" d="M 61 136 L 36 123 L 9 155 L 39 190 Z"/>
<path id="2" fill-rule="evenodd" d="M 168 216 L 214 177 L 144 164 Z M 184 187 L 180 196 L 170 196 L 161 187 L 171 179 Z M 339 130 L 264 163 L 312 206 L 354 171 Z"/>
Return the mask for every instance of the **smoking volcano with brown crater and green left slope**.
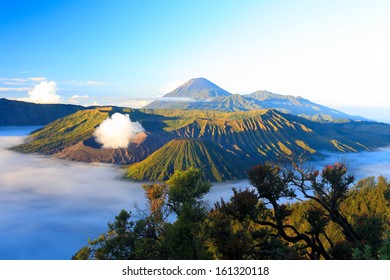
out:
<path id="1" fill-rule="evenodd" d="M 95 141 L 94 131 L 101 122 L 116 112 L 130 114 L 132 119 L 142 118 L 147 131 L 157 130 L 160 133 L 140 133 L 127 148 L 103 149 L 101 144 Z M 13 149 L 24 153 L 37 152 L 84 162 L 116 164 L 138 162 L 172 139 L 162 130 L 166 125 L 161 120 L 156 122 L 155 117 L 153 114 L 119 107 L 99 107 L 78 111 L 33 132 L 26 143 Z"/>

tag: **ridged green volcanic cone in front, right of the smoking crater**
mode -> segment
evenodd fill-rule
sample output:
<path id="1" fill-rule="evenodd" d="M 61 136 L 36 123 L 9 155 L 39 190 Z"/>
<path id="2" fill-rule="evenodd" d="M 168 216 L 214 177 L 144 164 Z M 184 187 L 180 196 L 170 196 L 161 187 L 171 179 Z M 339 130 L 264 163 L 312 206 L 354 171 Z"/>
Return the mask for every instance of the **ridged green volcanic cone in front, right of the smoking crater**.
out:
<path id="1" fill-rule="evenodd" d="M 237 162 L 240 162 L 237 165 Z M 162 181 L 177 170 L 191 166 L 200 168 L 204 179 L 226 181 L 245 178 L 254 164 L 207 141 L 193 139 L 172 140 L 145 160 L 127 168 L 133 180 Z"/>

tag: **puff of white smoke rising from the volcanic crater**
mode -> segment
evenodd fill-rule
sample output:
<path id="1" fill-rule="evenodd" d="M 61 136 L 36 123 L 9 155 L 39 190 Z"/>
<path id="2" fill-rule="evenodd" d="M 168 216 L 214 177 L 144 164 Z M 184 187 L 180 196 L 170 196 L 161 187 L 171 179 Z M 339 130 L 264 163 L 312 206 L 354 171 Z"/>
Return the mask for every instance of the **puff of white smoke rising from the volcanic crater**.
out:
<path id="1" fill-rule="evenodd" d="M 142 125 L 132 122 L 128 114 L 115 113 L 96 128 L 94 136 L 103 148 L 127 148 L 130 141 L 144 131 Z"/>

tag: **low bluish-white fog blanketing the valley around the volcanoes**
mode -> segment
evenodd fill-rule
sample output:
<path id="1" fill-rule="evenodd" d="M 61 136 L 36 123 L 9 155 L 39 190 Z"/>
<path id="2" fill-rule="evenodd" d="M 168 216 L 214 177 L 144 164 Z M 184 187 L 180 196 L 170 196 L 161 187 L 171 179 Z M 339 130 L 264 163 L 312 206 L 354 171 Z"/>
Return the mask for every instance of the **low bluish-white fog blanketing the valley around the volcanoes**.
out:
<path id="1" fill-rule="evenodd" d="M 144 208 L 141 183 L 121 180 L 111 165 L 84 164 L 7 150 L 34 128 L 0 128 L 0 259 L 70 259 L 88 238 L 107 230 L 121 209 Z M 390 178 L 390 149 L 331 155 L 323 164 L 347 159 L 357 177 Z M 321 163 L 321 164 L 322 164 Z M 231 196 L 231 187 L 214 184 L 212 204 Z"/>

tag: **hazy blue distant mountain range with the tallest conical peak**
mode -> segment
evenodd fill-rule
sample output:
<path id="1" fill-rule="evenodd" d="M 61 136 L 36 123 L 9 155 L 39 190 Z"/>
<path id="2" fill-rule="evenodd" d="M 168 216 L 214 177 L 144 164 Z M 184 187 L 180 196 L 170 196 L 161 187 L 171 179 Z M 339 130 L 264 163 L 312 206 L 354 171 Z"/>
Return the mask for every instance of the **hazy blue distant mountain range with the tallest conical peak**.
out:
<path id="1" fill-rule="evenodd" d="M 367 120 L 313 103 L 302 97 L 274 94 L 259 90 L 251 94 L 232 94 L 205 78 L 191 79 L 177 89 L 143 109 L 187 109 L 250 111 L 275 109 L 282 113 L 301 116 L 319 122 Z"/>

